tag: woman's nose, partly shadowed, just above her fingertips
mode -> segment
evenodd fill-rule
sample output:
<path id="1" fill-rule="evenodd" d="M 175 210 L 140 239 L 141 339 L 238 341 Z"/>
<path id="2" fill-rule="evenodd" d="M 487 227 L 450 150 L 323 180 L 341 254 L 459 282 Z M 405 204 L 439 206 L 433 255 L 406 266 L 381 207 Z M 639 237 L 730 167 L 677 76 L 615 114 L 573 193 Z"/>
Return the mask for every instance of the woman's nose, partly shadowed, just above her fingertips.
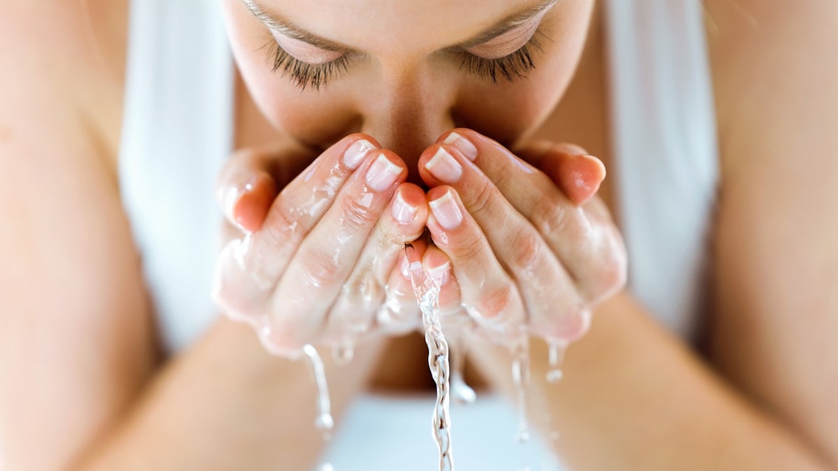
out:
<path id="1" fill-rule="evenodd" d="M 454 127 L 454 89 L 432 70 L 402 69 L 385 76 L 388 80 L 365 106 L 361 132 L 398 154 L 407 164 L 408 180 L 418 183 L 422 151 Z"/>

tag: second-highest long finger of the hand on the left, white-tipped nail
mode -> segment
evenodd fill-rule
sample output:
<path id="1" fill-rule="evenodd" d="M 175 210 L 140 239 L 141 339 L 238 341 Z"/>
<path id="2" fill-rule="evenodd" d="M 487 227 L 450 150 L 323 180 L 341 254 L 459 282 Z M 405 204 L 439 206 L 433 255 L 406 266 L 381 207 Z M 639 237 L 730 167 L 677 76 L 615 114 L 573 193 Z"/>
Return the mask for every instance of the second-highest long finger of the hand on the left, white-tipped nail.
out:
<path id="1" fill-rule="evenodd" d="M 368 154 L 292 257 L 274 294 L 272 340 L 297 349 L 323 328 L 365 242 L 407 169 L 395 153 Z"/>

